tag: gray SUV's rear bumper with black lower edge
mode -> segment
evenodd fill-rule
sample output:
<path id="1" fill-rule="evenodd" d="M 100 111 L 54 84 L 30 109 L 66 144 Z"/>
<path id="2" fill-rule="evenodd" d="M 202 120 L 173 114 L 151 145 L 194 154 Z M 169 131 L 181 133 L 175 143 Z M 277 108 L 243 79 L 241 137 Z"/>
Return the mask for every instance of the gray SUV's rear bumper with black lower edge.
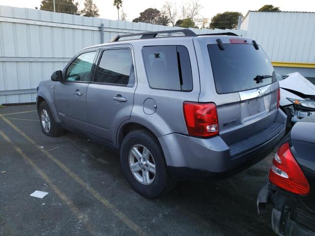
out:
<path id="1" fill-rule="evenodd" d="M 276 121 L 282 124 L 278 133 L 236 155 L 231 154 L 231 147 L 220 136 L 200 139 L 173 133 L 158 140 L 171 177 L 178 180 L 210 180 L 240 172 L 270 154 L 285 133 L 286 116 L 280 110 Z"/>

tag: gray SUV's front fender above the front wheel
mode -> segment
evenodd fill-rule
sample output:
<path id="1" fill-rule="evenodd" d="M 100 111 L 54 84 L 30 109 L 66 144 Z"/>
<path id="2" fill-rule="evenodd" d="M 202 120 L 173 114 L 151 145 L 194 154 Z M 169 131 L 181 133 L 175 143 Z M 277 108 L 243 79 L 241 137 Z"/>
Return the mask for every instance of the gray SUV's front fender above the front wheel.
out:
<path id="1" fill-rule="evenodd" d="M 54 97 L 55 84 L 56 82 L 51 81 L 51 80 L 45 80 L 45 81 L 40 82 L 38 85 L 36 103 L 38 103 L 39 97 L 42 97 L 47 102 L 47 105 L 54 116 L 54 120 L 57 123 L 60 123 L 61 120 L 59 119 L 57 115 L 56 105 L 55 105 L 55 97 Z"/>

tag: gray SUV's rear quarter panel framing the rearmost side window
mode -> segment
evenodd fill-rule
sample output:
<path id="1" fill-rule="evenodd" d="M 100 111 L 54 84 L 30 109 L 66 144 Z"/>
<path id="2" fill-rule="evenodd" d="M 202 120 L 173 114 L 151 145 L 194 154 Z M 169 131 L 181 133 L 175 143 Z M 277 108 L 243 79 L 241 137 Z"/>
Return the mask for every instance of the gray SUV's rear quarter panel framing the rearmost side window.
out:
<path id="1" fill-rule="evenodd" d="M 199 72 L 196 55 L 190 37 L 183 37 L 178 40 L 156 38 L 154 40 L 135 40 L 133 42 L 135 64 L 137 68 L 137 89 L 134 95 L 134 105 L 129 122 L 136 122 L 150 129 L 157 137 L 169 133 L 188 134 L 184 114 L 184 101 L 197 101 L 200 92 Z M 142 47 L 155 45 L 182 45 L 189 51 L 189 58 L 192 72 L 192 91 L 173 91 L 163 89 L 152 89 L 149 86 L 147 74 L 142 58 Z M 156 112 L 152 115 L 144 113 L 144 102 L 152 98 L 157 104 Z"/>

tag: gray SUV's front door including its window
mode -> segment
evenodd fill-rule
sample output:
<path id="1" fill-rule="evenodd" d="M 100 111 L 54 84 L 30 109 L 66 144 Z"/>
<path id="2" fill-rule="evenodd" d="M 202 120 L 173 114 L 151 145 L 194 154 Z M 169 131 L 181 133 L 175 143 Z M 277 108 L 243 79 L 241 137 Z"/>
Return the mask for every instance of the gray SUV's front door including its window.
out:
<path id="1" fill-rule="evenodd" d="M 97 51 L 76 57 L 66 68 L 63 82 L 56 82 L 54 95 L 59 118 L 73 128 L 87 130 L 86 94 Z"/>

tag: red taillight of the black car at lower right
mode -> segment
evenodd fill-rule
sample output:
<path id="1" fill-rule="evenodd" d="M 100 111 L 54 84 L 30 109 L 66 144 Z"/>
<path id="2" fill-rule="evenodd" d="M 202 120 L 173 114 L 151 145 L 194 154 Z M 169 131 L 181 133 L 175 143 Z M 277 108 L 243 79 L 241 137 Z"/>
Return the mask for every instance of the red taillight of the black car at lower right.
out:
<path id="1" fill-rule="evenodd" d="M 283 144 L 277 151 L 269 171 L 270 183 L 298 195 L 307 195 L 310 185 L 295 160 L 289 144 Z"/>

